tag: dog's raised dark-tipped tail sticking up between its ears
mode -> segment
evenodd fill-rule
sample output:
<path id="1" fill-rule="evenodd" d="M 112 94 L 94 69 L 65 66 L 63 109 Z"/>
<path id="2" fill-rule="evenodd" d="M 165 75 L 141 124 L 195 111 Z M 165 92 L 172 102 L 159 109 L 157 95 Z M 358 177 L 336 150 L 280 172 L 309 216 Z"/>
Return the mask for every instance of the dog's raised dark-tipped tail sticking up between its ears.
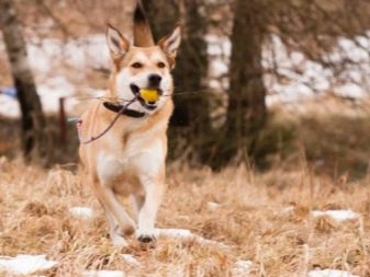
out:
<path id="1" fill-rule="evenodd" d="M 134 12 L 134 45 L 138 47 L 154 46 L 154 38 L 142 1 L 138 0 Z"/>

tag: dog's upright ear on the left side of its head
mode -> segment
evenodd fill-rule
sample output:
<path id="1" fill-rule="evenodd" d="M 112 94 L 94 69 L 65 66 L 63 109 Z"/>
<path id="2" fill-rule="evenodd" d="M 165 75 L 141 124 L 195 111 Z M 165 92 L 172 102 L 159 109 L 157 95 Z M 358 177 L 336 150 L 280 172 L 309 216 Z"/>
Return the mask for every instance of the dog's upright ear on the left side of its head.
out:
<path id="1" fill-rule="evenodd" d="M 108 24 L 106 26 L 106 44 L 113 59 L 123 57 L 130 47 L 128 41 L 120 33 L 119 30 Z"/>

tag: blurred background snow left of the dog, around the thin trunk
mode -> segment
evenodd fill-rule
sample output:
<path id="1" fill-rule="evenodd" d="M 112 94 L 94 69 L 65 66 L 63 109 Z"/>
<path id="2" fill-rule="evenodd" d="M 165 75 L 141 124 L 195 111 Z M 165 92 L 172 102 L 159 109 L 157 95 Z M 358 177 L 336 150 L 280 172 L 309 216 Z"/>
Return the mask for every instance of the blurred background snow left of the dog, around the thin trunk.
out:
<path id="1" fill-rule="evenodd" d="M 29 61 L 37 82 L 37 93 L 41 96 L 43 109 L 47 114 L 57 113 L 59 99 L 68 97 L 65 102 L 67 113 L 71 113 L 79 101 L 71 99 L 76 95 L 76 84 L 60 71 L 67 67 L 74 79 L 86 80 L 87 68 L 109 68 L 109 50 L 105 36 L 91 35 L 79 39 L 43 39 L 37 44 L 27 45 Z M 0 84 L 1 88 L 2 84 Z M 85 92 L 92 91 L 89 88 Z M 89 93 L 89 96 L 96 93 Z M 16 99 L 0 93 L 0 116 L 16 118 L 20 107 Z"/>

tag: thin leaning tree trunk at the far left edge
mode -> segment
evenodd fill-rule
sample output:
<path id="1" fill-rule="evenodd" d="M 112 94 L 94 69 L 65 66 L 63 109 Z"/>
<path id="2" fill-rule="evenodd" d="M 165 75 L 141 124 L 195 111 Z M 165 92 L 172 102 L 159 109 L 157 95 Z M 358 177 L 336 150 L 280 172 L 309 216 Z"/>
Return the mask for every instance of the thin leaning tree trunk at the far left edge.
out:
<path id="1" fill-rule="evenodd" d="M 22 148 L 27 161 L 46 155 L 45 118 L 29 66 L 26 45 L 12 0 L 0 0 L 0 27 L 22 113 Z"/>

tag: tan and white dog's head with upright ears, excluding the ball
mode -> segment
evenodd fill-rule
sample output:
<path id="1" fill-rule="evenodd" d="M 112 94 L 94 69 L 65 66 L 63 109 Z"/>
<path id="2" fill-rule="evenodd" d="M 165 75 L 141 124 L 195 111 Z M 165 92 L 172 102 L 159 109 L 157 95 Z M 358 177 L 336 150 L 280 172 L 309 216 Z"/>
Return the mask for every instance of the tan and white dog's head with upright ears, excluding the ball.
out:
<path id="1" fill-rule="evenodd" d="M 177 25 L 171 34 L 156 45 L 153 44 L 152 35 L 147 37 L 148 42 L 143 42 L 143 36 L 141 39 L 145 47 L 132 45 L 119 30 L 108 26 L 106 42 L 114 65 L 111 86 L 120 99 L 138 97 L 130 108 L 152 114 L 172 94 L 171 70 L 181 41 L 181 28 Z M 141 94 L 143 90 L 155 92 L 156 96 L 145 99 Z"/>

